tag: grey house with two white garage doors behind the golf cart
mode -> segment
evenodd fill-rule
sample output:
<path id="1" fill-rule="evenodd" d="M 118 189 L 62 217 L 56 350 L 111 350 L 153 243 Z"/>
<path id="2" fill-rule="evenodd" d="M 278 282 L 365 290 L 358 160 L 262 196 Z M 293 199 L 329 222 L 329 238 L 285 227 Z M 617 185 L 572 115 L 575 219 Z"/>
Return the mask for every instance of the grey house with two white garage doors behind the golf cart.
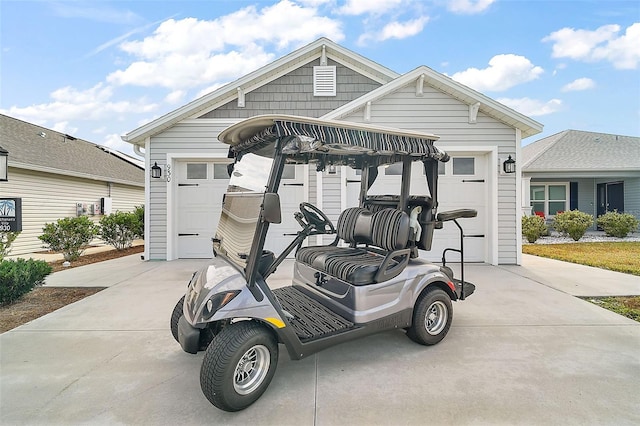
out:
<path id="1" fill-rule="evenodd" d="M 138 152 L 144 149 L 147 169 L 157 163 L 163 172 L 160 179 L 146 177 L 146 259 L 211 256 L 230 161 L 228 146 L 217 136 L 231 124 L 266 113 L 439 135 L 437 146 L 452 156 L 441 170 L 440 211 L 470 207 L 479 212 L 463 220 L 474 235 L 467 239 L 465 259 L 520 263 L 519 167 L 514 174 L 500 170 L 509 155 L 519 159 L 521 140 L 539 133 L 542 125 L 430 68 L 399 75 L 326 38 L 123 136 Z M 416 183 L 424 180 L 420 170 L 414 172 Z M 376 186 L 397 192 L 398 179 L 396 169 L 388 167 Z M 335 221 L 357 203 L 358 182 L 348 167 L 332 173 L 288 166 L 281 186 L 283 225 L 270 228 L 266 247 L 278 252 L 291 240 L 285 234 L 299 228 L 293 212 L 300 201 L 315 204 Z M 458 237 L 449 223 L 423 255 L 438 260 L 442 248 L 451 245 L 457 247 Z"/>

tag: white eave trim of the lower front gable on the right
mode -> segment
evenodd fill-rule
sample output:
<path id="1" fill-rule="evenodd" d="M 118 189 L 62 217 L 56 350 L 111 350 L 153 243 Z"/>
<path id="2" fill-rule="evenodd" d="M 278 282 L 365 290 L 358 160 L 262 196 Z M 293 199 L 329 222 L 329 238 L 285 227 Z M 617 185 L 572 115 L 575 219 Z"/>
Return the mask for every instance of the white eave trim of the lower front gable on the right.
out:
<path id="1" fill-rule="evenodd" d="M 384 96 L 395 92 L 401 87 L 404 87 L 421 77 L 424 77 L 424 84 L 446 93 L 460 102 L 467 105 L 474 105 L 479 102 L 480 111 L 502 123 L 516 129 L 520 129 L 523 139 L 542 131 L 543 126 L 537 121 L 532 120 L 531 118 L 501 104 L 500 102 L 497 102 L 488 96 L 485 96 L 464 84 L 458 83 L 450 77 L 440 74 L 439 72 L 436 72 L 424 65 L 396 78 L 392 82 L 387 83 L 364 96 L 359 97 L 358 99 L 355 99 L 352 102 L 349 102 L 346 105 L 341 106 L 340 108 L 335 109 L 329 114 L 324 115 L 323 118 L 340 119 L 346 117 L 354 111 L 364 107 L 367 102 L 373 103 L 377 99 L 383 98 Z"/>

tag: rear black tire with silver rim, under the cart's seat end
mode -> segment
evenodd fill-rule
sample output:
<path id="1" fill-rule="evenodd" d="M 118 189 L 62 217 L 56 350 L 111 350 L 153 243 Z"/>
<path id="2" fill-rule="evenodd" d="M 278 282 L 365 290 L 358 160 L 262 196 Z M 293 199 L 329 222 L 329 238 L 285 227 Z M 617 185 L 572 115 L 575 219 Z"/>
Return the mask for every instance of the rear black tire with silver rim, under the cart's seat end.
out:
<path id="1" fill-rule="evenodd" d="M 447 335 L 452 320 L 449 295 L 440 288 L 429 289 L 416 302 L 407 336 L 421 345 L 435 345 Z"/>

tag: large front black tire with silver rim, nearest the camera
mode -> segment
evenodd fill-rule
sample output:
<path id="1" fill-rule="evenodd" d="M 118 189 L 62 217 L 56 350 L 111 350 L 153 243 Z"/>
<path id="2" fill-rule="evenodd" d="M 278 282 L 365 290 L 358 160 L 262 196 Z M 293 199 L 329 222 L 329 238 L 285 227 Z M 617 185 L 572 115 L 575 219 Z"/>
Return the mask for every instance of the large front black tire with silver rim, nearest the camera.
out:
<path id="1" fill-rule="evenodd" d="M 221 410 L 242 410 L 264 393 L 277 364 L 278 343 L 270 330 L 254 321 L 231 324 L 204 354 L 202 393 Z"/>

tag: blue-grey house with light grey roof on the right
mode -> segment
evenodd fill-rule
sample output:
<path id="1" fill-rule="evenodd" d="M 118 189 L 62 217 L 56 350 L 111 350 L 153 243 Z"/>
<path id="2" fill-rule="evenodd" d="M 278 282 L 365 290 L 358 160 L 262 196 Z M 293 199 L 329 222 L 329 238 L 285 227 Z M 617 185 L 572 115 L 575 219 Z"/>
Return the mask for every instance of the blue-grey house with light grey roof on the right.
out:
<path id="1" fill-rule="evenodd" d="M 640 219 L 640 138 L 565 130 L 522 148 L 523 213 L 580 210 Z"/>

